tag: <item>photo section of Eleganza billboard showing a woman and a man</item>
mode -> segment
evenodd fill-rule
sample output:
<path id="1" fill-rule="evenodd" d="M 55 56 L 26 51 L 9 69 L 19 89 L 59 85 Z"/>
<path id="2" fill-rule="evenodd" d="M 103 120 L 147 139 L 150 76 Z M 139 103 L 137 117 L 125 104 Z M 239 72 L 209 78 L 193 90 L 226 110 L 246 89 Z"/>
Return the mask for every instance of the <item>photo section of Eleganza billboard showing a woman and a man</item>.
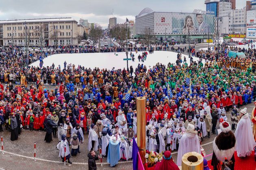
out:
<path id="1" fill-rule="evenodd" d="M 214 34 L 214 15 L 173 13 L 172 32 L 178 34 Z"/>

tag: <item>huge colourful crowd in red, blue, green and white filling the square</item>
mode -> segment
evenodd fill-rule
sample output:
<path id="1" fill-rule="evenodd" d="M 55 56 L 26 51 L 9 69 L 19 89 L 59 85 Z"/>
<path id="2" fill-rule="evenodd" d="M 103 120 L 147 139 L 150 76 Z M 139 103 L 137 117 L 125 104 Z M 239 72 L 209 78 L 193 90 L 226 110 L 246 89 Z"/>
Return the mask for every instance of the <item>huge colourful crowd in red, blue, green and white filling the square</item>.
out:
<path id="1" fill-rule="evenodd" d="M 22 51 L 0 55 L 5 83 L 0 83 L 0 130 L 4 125 L 11 131 L 11 140 L 17 140 L 22 129 L 44 130 L 46 142 L 52 136 L 60 141 L 63 161 L 63 146 L 70 145 L 70 155 L 75 156 L 89 138 L 88 157 L 101 146 L 102 155 L 114 166 L 119 159 L 131 158 L 131 139 L 136 138 L 139 123 L 136 98 L 144 96 L 147 150 L 177 150 L 187 130 L 202 141 L 216 133 L 220 118 L 227 121 L 229 110 L 234 129 L 239 122 L 237 108 L 256 101 L 256 49 L 242 49 L 246 58 L 230 58 L 224 52 L 228 47 L 222 48 L 219 55 L 200 51 L 199 62 L 190 59 L 190 64 L 187 60 L 182 64 L 179 54 L 176 64 L 157 63 L 150 69 L 139 64 L 135 70 L 67 63 L 63 70 L 54 64 L 26 69 Z M 29 53 L 28 60 L 49 55 Z M 47 88 L 46 83 L 54 87 Z M 67 160 L 72 163 L 70 155 Z"/>

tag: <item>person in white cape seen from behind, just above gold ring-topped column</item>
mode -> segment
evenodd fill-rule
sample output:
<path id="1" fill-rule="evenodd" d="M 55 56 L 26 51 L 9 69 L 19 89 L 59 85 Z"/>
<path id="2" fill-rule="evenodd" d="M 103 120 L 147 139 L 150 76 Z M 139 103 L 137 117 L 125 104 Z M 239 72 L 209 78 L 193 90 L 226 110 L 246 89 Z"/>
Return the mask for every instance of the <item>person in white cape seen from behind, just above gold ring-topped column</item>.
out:
<path id="1" fill-rule="evenodd" d="M 188 128 L 184 135 L 180 138 L 177 165 L 181 166 L 181 159 L 185 153 L 197 152 L 201 153 L 200 141 L 195 131 L 195 126 L 188 124 Z"/>

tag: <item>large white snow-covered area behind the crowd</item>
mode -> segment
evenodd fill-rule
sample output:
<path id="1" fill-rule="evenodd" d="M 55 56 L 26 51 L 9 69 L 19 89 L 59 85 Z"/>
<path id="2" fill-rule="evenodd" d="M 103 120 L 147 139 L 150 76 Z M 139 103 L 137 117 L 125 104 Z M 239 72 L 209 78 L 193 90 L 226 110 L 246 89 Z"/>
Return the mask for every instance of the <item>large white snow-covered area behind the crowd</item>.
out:
<path id="1" fill-rule="evenodd" d="M 152 68 L 152 66 L 156 65 L 158 62 L 167 65 L 169 62 L 176 63 L 177 60 L 177 53 L 171 51 L 154 51 L 153 54 L 148 54 L 147 60 L 144 62 L 139 62 L 138 60 L 138 56 L 139 54 L 142 55 L 142 51 L 137 54 L 135 52 L 132 53 L 135 54 L 135 62 L 129 60 L 128 67 L 130 68 L 132 65 L 134 70 L 138 64 L 143 64 L 149 69 L 149 66 Z M 184 56 L 186 56 L 187 63 L 189 64 L 188 55 L 182 54 L 182 61 L 184 60 Z M 126 58 L 125 52 L 55 54 L 43 59 L 43 66 L 52 66 L 52 63 L 54 63 L 55 67 L 60 65 L 61 69 L 63 69 L 64 62 L 66 61 L 67 65 L 70 63 L 75 64 L 76 68 L 78 65 L 81 65 L 85 68 L 98 67 L 100 69 L 107 68 L 111 70 L 115 67 L 115 69 L 123 69 L 127 67 L 126 61 L 123 60 L 124 58 Z M 128 53 L 128 58 L 130 58 L 130 52 Z M 193 57 L 193 60 L 198 61 L 199 59 Z M 39 61 L 32 63 L 30 66 L 39 66 Z"/>

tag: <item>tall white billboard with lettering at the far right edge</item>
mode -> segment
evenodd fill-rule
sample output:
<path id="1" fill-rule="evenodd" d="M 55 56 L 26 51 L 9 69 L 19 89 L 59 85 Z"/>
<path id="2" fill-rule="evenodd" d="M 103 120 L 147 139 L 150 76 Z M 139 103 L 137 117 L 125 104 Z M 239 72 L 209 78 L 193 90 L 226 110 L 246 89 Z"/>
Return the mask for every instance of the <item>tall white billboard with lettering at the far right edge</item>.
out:
<path id="1" fill-rule="evenodd" d="M 246 13 L 246 38 L 256 38 L 256 10 Z"/>

